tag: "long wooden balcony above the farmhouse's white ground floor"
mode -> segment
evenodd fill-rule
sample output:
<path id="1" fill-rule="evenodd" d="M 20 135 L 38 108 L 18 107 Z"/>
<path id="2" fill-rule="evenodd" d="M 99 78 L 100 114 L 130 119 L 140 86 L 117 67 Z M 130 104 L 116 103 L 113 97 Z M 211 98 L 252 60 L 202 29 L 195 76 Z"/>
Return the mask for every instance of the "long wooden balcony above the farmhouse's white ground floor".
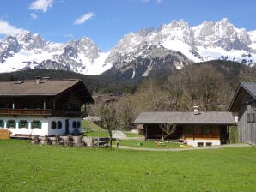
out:
<path id="1" fill-rule="evenodd" d="M 0 109 L 0 115 L 52 116 L 52 117 L 80 117 L 80 111 L 63 111 L 52 109 Z"/>

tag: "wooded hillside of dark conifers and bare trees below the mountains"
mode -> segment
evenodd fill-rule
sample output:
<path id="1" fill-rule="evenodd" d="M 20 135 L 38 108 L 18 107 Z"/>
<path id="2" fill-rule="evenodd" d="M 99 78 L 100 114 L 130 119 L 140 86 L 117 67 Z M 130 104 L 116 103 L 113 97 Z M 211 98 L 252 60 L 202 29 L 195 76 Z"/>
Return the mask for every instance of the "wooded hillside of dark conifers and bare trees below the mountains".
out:
<path id="1" fill-rule="evenodd" d="M 123 129 L 129 128 L 142 111 L 188 111 L 198 105 L 201 111 L 227 110 L 239 81 L 256 81 L 256 66 L 241 63 L 210 61 L 193 63 L 172 74 L 153 75 L 139 79 L 120 79 L 119 76 L 81 75 L 63 70 L 22 70 L 0 74 L 0 80 L 27 80 L 36 76 L 52 79 L 79 78 L 93 95 L 119 95 L 114 102 Z M 102 105 L 88 105 L 94 114 Z"/>

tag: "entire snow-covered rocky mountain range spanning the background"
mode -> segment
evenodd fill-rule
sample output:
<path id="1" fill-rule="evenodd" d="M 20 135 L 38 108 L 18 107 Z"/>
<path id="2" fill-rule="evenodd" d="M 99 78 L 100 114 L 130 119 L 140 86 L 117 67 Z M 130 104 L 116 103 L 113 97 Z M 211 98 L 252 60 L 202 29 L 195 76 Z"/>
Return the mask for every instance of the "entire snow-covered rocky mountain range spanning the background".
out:
<path id="1" fill-rule="evenodd" d="M 134 78 L 215 59 L 254 65 L 256 31 L 236 28 L 227 19 L 204 21 L 194 27 L 183 20 L 172 21 L 158 29 L 125 34 L 109 52 L 100 51 L 86 37 L 53 43 L 23 31 L 0 40 L 0 72 L 64 69 L 82 74 L 107 71 Z"/>

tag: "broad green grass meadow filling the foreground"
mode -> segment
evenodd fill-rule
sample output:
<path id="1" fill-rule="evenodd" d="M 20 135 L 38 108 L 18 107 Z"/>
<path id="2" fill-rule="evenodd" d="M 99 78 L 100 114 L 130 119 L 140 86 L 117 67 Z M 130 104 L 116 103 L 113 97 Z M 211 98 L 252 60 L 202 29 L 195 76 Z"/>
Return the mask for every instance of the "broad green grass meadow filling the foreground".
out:
<path id="1" fill-rule="evenodd" d="M 0 141 L 0 191 L 256 191 L 256 147 L 146 152 Z"/>

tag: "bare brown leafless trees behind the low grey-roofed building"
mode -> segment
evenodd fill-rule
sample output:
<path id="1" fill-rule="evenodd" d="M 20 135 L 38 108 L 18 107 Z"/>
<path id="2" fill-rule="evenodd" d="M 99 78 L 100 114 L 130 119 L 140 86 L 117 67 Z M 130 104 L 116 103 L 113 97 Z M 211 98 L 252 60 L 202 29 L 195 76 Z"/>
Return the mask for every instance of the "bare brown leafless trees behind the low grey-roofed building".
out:
<path id="1" fill-rule="evenodd" d="M 226 111 L 240 81 L 256 81 L 256 66 L 197 63 L 174 74 L 143 81 L 133 94 L 113 104 L 119 129 L 131 129 L 142 111 Z M 88 106 L 89 113 L 98 107 Z"/>

